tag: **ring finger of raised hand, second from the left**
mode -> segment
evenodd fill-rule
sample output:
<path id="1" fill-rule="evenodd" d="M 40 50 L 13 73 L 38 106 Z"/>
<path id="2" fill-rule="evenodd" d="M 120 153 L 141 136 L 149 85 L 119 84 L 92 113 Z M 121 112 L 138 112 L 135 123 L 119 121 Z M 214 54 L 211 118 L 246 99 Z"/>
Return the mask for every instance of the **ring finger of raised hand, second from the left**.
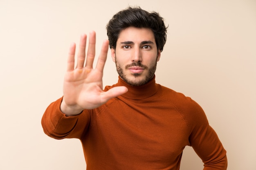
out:
<path id="1" fill-rule="evenodd" d="M 79 44 L 79 51 L 77 56 L 77 65 L 76 68 L 83 68 L 84 61 L 85 61 L 85 47 L 86 47 L 86 38 L 87 35 L 81 35 L 80 37 L 80 44 Z"/>

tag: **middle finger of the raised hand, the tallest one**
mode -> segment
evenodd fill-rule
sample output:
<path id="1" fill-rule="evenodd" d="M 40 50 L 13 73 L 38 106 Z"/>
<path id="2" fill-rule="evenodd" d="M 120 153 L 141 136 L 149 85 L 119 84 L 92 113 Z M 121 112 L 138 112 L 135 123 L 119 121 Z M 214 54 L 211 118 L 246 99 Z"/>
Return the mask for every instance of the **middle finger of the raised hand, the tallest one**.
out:
<path id="1" fill-rule="evenodd" d="M 94 57 L 95 57 L 95 44 L 96 44 L 96 33 L 92 31 L 90 32 L 90 36 L 89 36 L 89 46 L 88 46 L 86 63 L 85 63 L 86 68 L 92 68 Z"/>

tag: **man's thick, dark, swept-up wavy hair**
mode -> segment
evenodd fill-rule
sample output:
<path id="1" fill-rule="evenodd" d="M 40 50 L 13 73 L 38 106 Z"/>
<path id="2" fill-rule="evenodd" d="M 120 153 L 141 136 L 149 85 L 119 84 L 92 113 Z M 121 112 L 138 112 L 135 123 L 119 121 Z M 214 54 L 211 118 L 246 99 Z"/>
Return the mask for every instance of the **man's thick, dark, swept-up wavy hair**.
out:
<path id="1" fill-rule="evenodd" d="M 167 27 L 164 25 L 164 18 L 159 13 L 149 13 L 140 7 L 128 7 L 119 11 L 108 22 L 106 28 L 110 48 L 116 48 L 119 34 L 130 26 L 150 28 L 154 33 L 157 49 L 162 52 L 166 42 L 167 31 Z"/>

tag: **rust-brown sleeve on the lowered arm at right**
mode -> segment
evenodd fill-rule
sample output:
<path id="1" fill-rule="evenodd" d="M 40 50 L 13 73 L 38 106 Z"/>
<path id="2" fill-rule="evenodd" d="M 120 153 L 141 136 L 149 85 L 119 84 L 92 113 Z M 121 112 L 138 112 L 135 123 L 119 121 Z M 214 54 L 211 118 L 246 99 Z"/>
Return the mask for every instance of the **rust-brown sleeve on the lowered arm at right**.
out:
<path id="1" fill-rule="evenodd" d="M 189 142 L 197 155 L 204 162 L 204 170 L 227 170 L 226 150 L 218 135 L 209 125 L 202 108 L 193 100 L 190 122 L 191 135 Z"/>

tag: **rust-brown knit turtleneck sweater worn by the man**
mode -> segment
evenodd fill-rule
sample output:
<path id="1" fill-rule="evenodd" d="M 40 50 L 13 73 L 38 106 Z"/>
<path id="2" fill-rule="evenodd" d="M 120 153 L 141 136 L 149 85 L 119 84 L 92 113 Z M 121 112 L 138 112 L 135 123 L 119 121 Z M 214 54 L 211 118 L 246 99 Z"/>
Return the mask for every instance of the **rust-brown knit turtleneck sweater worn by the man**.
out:
<path id="1" fill-rule="evenodd" d="M 66 117 L 62 98 L 46 109 L 42 126 L 55 139 L 78 138 L 87 170 L 179 170 L 182 150 L 192 146 L 204 170 L 226 170 L 227 157 L 202 108 L 191 98 L 155 83 L 117 84 L 128 92 L 106 104 Z M 107 86 L 105 90 L 110 89 Z"/>

